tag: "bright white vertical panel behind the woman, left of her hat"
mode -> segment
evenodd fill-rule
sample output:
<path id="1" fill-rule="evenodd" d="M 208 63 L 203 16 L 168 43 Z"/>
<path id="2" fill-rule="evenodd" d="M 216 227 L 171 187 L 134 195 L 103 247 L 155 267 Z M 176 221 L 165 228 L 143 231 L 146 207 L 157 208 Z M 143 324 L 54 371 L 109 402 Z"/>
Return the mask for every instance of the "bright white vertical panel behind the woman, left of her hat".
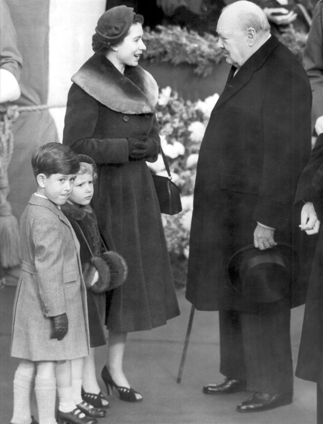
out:
<path id="1" fill-rule="evenodd" d="M 92 35 L 106 0 L 50 0 L 49 105 L 66 105 L 71 76 L 93 54 Z M 62 140 L 66 108 L 53 108 L 58 137 Z"/>

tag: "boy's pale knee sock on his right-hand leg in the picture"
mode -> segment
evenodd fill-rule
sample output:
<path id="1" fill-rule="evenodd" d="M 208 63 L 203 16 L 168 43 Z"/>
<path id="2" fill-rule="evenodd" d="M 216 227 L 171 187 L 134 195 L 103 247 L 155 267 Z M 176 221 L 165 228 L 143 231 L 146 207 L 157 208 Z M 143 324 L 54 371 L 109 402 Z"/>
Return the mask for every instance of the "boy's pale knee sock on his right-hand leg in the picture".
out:
<path id="1" fill-rule="evenodd" d="M 55 424 L 56 378 L 35 378 L 39 424 Z"/>

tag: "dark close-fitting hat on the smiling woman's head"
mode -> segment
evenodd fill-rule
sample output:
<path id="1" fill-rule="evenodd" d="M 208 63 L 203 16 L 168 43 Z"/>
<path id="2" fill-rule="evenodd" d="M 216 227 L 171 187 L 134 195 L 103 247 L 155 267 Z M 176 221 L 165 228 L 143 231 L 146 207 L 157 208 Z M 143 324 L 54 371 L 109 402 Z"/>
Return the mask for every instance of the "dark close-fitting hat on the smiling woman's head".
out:
<path id="1" fill-rule="evenodd" d="M 134 9 L 124 5 L 113 7 L 104 12 L 97 21 L 95 28 L 98 40 L 106 45 L 121 41 L 134 22 L 134 15 Z"/>

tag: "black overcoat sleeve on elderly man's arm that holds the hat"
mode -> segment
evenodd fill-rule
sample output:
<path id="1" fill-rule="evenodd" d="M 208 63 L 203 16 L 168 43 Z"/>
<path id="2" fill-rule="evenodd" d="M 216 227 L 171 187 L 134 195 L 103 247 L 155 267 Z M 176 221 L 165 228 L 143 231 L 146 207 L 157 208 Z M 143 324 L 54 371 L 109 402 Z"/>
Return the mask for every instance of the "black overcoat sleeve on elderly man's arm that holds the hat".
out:
<path id="1" fill-rule="evenodd" d="M 292 68 L 292 66 L 291 66 Z M 263 105 L 264 162 L 253 219 L 275 229 L 289 220 L 301 170 L 311 149 L 311 90 L 303 72 L 282 71 Z"/>

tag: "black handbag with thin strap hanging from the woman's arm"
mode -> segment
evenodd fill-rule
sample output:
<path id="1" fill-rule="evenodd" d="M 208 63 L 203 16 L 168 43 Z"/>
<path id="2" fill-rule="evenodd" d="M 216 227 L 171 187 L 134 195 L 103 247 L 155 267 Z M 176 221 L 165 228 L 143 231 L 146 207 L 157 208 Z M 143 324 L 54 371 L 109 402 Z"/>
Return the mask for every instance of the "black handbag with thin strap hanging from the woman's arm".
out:
<path id="1" fill-rule="evenodd" d="M 167 215 L 175 215 L 181 212 L 182 210 L 181 195 L 179 188 L 172 181 L 170 167 L 168 165 L 166 156 L 162 148 L 160 148 L 160 151 L 162 153 L 168 177 L 152 174 L 153 182 L 155 184 L 155 190 L 159 201 L 160 211 Z"/>

